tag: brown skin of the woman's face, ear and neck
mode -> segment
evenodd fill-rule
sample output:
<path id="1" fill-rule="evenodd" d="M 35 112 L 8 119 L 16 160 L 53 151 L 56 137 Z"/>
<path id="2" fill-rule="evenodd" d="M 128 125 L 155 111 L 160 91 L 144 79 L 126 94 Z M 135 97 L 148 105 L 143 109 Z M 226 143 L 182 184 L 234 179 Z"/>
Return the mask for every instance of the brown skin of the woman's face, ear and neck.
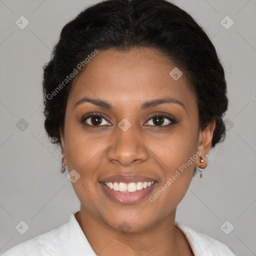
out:
<path id="1" fill-rule="evenodd" d="M 154 49 L 104 50 L 73 82 L 61 147 L 68 171 L 75 169 L 80 175 L 72 183 L 81 202 L 75 217 L 98 255 L 193 255 L 184 234 L 174 226 L 175 212 L 194 166 L 207 166 L 205 153 L 210 150 L 215 122 L 199 129 L 195 95 L 184 71 L 178 80 L 172 79 L 169 72 L 174 67 Z M 83 96 L 105 100 L 112 109 L 90 102 L 74 107 Z M 166 96 L 181 101 L 185 108 L 162 103 L 140 109 L 144 101 Z M 100 125 L 90 126 L 91 117 L 82 123 L 82 117 L 91 112 L 103 114 Z M 157 113 L 171 115 L 176 123 L 166 126 L 170 121 L 164 117 L 158 127 L 150 117 Z M 126 131 L 118 126 L 123 118 L 131 123 Z M 154 202 L 146 197 L 133 204 L 117 203 L 99 184 L 115 174 L 140 174 L 157 181 L 149 194 L 153 195 L 197 151 L 204 162 L 197 157 Z M 127 232 L 120 231 L 123 221 L 128 223 Z"/>

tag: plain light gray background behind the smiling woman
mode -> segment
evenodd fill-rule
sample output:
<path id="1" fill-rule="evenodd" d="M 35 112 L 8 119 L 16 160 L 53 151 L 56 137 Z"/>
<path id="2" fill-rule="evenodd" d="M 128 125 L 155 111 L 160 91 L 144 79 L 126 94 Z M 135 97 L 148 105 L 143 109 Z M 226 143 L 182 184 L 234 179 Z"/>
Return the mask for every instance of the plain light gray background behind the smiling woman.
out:
<path id="1" fill-rule="evenodd" d="M 41 81 L 61 28 L 91 3 L 0 0 L 0 252 L 58 227 L 79 209 L 67 171 L 60 173 L 60 150 L 43 130 Z M 173 3 L 212 38 L 229 97 L 226 139 L 210 151 L 203 177 L 192 179 L 176 220 L 222 241 L 236 255 L 256 255 L 256 0 Z M 29 21 L 24 29 L 15 24 L 21 15 Z M 220 23 L 226 15 L 234 21 L 229 29 Z M 18 125 L 21 118 L 27 127 Z M 15 229 L 21 220 L 29 226 L 23 235 Z M 234 226 L 229 234 L 220 228 L 226 220 Z"/>

